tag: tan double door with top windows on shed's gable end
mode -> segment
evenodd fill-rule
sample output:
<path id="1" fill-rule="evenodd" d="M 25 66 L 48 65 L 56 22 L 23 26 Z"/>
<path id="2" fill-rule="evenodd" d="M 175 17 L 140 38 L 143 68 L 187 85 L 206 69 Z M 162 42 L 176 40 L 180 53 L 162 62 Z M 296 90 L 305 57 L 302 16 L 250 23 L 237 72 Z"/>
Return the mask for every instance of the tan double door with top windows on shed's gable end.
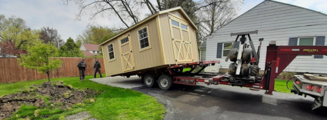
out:
<path id="1" fill-rule="evenodd" d="M 189 24 L 172 15 L 169 15 L 169 23 L 176 64 L 193 62 Z"/>

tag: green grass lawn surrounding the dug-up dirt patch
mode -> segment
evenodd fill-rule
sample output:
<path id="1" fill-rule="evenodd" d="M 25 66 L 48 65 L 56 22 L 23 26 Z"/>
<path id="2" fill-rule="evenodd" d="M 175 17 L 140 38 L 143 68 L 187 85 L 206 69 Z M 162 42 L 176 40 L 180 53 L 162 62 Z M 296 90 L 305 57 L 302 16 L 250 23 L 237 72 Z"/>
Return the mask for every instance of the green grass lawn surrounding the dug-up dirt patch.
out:
<path id="1" fill-rule="evenodd" d="M 91 105 L 87 105 L 81 109 L 58 113 L 54 110 L 52 111 L 54 114 L 48 119 L 59 119 L 63 118 L 63 116 L 81 111 L 88 111 L 92 117 L 97 119 L 162 119 L 164 116 L 166 112 L 164 105 L 158 103 L 155 98 L 132 89 L 111 87 L 90 81 L 89 79 L 92 77 L 92 75 L 85 76 L 85 81 L 79 81 L 79 77 L 52 78 L 51 81 L 64 81 L 65 84 L 73 85 L 73 87 L 88 87 L 104 92 L 98 95 L 96 102 Z M 42 84 L 45 81 L 48 80 L 0 83 L 0 96 L 18 92 L 22 87 L 30 87 L 32 84 Z M 29 108 L 27 107 L 27 109 Z"/>

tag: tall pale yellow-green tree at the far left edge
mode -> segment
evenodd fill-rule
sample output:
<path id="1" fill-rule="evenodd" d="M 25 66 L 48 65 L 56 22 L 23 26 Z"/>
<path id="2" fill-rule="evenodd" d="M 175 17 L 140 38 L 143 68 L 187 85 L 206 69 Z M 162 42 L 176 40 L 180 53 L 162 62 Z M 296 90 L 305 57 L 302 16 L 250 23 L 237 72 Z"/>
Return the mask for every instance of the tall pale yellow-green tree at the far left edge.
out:
<path id="1" fill-rule="evenodd" d="M 28 46 L 35 45 L 39 32 L 31 31 L 21 18 L 15 16 L 6 18 L 5 15 L 0 15 L 0 41 L 13 43 L 16 50 L 27 50 Z"/>

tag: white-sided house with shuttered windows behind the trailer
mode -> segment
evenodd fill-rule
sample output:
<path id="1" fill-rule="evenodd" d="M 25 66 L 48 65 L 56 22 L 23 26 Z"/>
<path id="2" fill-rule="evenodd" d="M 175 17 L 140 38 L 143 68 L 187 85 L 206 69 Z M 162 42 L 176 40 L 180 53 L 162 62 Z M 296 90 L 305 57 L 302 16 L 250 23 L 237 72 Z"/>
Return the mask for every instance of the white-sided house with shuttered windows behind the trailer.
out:
<path id="1" fill-rule="evenodd" d="M 231 62 L 225 62 L 225 58 L 232 46 L 232 41 L 236 39 L 236 36 L 230 37 L 230 33 L 255 30 L 259 33 L 258 35 L 251 34 L 251 39 L 256 50 L 260 43 L 259 38 L 264 38 L 259 64 L 263 70 L 269 41 L 276 41 L 276 45 L 285 46 L 326 45 L 327 15 L 266 0 L 208 36 L 206 48 L 201 48 L 206 50 L 205 60 L 220 60 L 220 69 L 228 69 Z M 284 71 L 327 73 L 327 56 L 298 55 Z"/>

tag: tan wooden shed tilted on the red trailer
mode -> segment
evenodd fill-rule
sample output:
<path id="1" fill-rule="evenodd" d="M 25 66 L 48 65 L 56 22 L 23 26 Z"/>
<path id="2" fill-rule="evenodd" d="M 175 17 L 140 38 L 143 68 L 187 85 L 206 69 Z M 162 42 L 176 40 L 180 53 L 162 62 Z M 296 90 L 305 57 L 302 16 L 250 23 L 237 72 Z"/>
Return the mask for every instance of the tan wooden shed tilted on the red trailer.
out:
<path id="1" fill-rule="evenodd" d="M 196 30 L 181 7 L 159 11 L 100 44 L 106 75 L 198 62 Z"/>

